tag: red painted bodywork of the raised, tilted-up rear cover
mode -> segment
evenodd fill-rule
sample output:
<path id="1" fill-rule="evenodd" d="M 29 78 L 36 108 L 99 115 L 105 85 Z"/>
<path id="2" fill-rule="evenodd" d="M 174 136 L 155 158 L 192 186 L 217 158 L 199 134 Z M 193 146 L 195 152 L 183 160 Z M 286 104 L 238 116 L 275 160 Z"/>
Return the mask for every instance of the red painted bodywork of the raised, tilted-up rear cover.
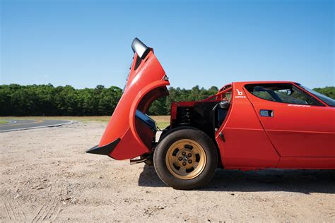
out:
<path id="1" fill-rule="evenodd" d="M 110 157 L 118 160 L 132 159 L 151 151 L 151 147 L 146 145 L 146 140 L 142 140 L 138 133 L 141 131 L 141 126 L 137 125 L 136 129 L 135 112 L 139 109 L 145 113 L 153 100 L 167 94 L 166 85 L 170 85 L 169 81 L 164 80 L 165 71 L 153 51 L 149 52 L 146 59 L 135 70 L 136 58 L 135 54 L 124 94 L 99 144 L 102 147 L 118 138 L 121 139 L 110 154 Z M 155 94 L 151 94 L 151 91 Z M 143 97 L 146 98 L 141 101 Z"/>

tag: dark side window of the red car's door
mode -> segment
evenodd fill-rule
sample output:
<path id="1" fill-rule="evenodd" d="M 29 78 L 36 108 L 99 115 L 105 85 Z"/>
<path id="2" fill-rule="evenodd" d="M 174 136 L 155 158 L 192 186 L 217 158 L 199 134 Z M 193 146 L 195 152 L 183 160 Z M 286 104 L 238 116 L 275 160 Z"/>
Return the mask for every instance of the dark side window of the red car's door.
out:
<path id="1" fill-rule="evenodd" d="M 271 102 L 324 106 L 314 97 L 292 84 L 246 85 L 245 88 L 256 97 Z"/>

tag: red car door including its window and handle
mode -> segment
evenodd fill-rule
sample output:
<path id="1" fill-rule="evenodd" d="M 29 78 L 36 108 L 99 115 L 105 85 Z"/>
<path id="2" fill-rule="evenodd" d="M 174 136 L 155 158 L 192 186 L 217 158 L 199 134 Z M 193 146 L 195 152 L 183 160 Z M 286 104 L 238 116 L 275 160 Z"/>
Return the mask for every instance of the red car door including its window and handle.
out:
<path id="1" fill-rule="evenodd" d="M 246 85 L 281 157 L 335 157 L 335 110 L 293 83 Z"/>

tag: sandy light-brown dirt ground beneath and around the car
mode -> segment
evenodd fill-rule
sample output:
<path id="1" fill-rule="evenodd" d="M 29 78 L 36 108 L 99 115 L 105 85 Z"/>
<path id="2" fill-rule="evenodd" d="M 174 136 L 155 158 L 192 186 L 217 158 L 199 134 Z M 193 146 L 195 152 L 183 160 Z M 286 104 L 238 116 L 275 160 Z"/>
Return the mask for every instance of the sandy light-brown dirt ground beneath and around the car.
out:
<path id="1" fill-rule="evenodd" d="M 153 167 L 88 155 L 102 123 L 0 133 L 1 222 L 335 222 L 335 171 L 218 169 L 175 191 Z"/>

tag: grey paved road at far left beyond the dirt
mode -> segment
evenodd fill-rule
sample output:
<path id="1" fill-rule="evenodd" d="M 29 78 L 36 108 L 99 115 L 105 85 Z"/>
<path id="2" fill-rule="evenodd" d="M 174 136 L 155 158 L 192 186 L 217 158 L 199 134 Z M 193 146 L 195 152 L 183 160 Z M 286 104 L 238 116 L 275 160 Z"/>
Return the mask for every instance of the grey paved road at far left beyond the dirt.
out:
<path id="1" fill-rule="evenodd" d="M 10 123 L 0 124 L 0 133 L 7 131 L 18 131 L 30 128 L 44 128 L 61 126 L 71 121 L 63 120 L 10 120 Z"/>

